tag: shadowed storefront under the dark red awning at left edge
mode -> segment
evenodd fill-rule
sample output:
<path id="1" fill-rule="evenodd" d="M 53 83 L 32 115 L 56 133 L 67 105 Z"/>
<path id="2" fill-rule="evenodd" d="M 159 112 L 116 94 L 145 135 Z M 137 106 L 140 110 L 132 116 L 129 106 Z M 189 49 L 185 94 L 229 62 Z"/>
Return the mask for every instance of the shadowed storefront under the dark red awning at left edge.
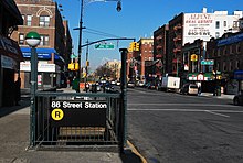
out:
<path id="1" fill-rule="evenodd" d="M 14 82 L 21 61 L 23 56 L 18 43 L 0 35 L 0 107 L 15 104 Z"/>

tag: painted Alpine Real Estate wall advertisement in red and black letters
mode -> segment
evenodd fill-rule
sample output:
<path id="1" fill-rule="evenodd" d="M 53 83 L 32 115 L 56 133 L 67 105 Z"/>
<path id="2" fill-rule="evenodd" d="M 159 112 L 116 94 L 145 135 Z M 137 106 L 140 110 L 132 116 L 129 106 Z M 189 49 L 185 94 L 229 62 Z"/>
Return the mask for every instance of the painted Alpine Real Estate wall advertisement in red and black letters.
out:
<path id="1" fill-rule="evenodd" d="M 194 40 L 201 39 L 209 41 L 214 31 L 214 15 L 212 13 L 186 13 L 183 44 L 193 43 Z"/>

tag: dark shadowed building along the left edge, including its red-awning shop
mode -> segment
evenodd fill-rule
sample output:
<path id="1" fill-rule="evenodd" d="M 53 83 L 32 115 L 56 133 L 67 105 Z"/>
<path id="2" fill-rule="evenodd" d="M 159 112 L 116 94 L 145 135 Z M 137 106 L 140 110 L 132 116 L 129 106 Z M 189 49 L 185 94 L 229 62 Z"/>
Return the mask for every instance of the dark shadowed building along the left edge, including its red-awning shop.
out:
<path id="1" fill-rule="evenodd" d="M 10 39 L 17 25 L 23 23 L 13 0 L 0 1 L 0 107 L 15 105 L 14 82 L 23 61 L 18 43 Z"/>

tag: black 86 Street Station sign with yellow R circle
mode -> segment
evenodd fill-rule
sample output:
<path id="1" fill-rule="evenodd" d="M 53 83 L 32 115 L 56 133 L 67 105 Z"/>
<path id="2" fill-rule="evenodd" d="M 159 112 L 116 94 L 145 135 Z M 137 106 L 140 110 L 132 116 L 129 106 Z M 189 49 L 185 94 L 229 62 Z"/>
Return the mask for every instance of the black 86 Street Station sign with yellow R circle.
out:
<path id="1" fill-rule="evenodd" d="M 52 127 L 106 127 L 106 101 L 52 100 Z"/>

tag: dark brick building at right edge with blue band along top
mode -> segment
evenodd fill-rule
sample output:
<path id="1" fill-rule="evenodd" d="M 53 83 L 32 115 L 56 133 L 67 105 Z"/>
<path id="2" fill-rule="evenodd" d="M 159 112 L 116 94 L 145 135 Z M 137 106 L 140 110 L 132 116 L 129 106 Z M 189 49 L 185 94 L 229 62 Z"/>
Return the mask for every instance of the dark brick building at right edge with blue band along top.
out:
<path id="1" fill-rule="evenodd" d="M 243 90 L 243 32 L 211 39 L 207 47 L 208 58 L 214 61 L 214 72 L 222 74 L 225 94 Z"/>

